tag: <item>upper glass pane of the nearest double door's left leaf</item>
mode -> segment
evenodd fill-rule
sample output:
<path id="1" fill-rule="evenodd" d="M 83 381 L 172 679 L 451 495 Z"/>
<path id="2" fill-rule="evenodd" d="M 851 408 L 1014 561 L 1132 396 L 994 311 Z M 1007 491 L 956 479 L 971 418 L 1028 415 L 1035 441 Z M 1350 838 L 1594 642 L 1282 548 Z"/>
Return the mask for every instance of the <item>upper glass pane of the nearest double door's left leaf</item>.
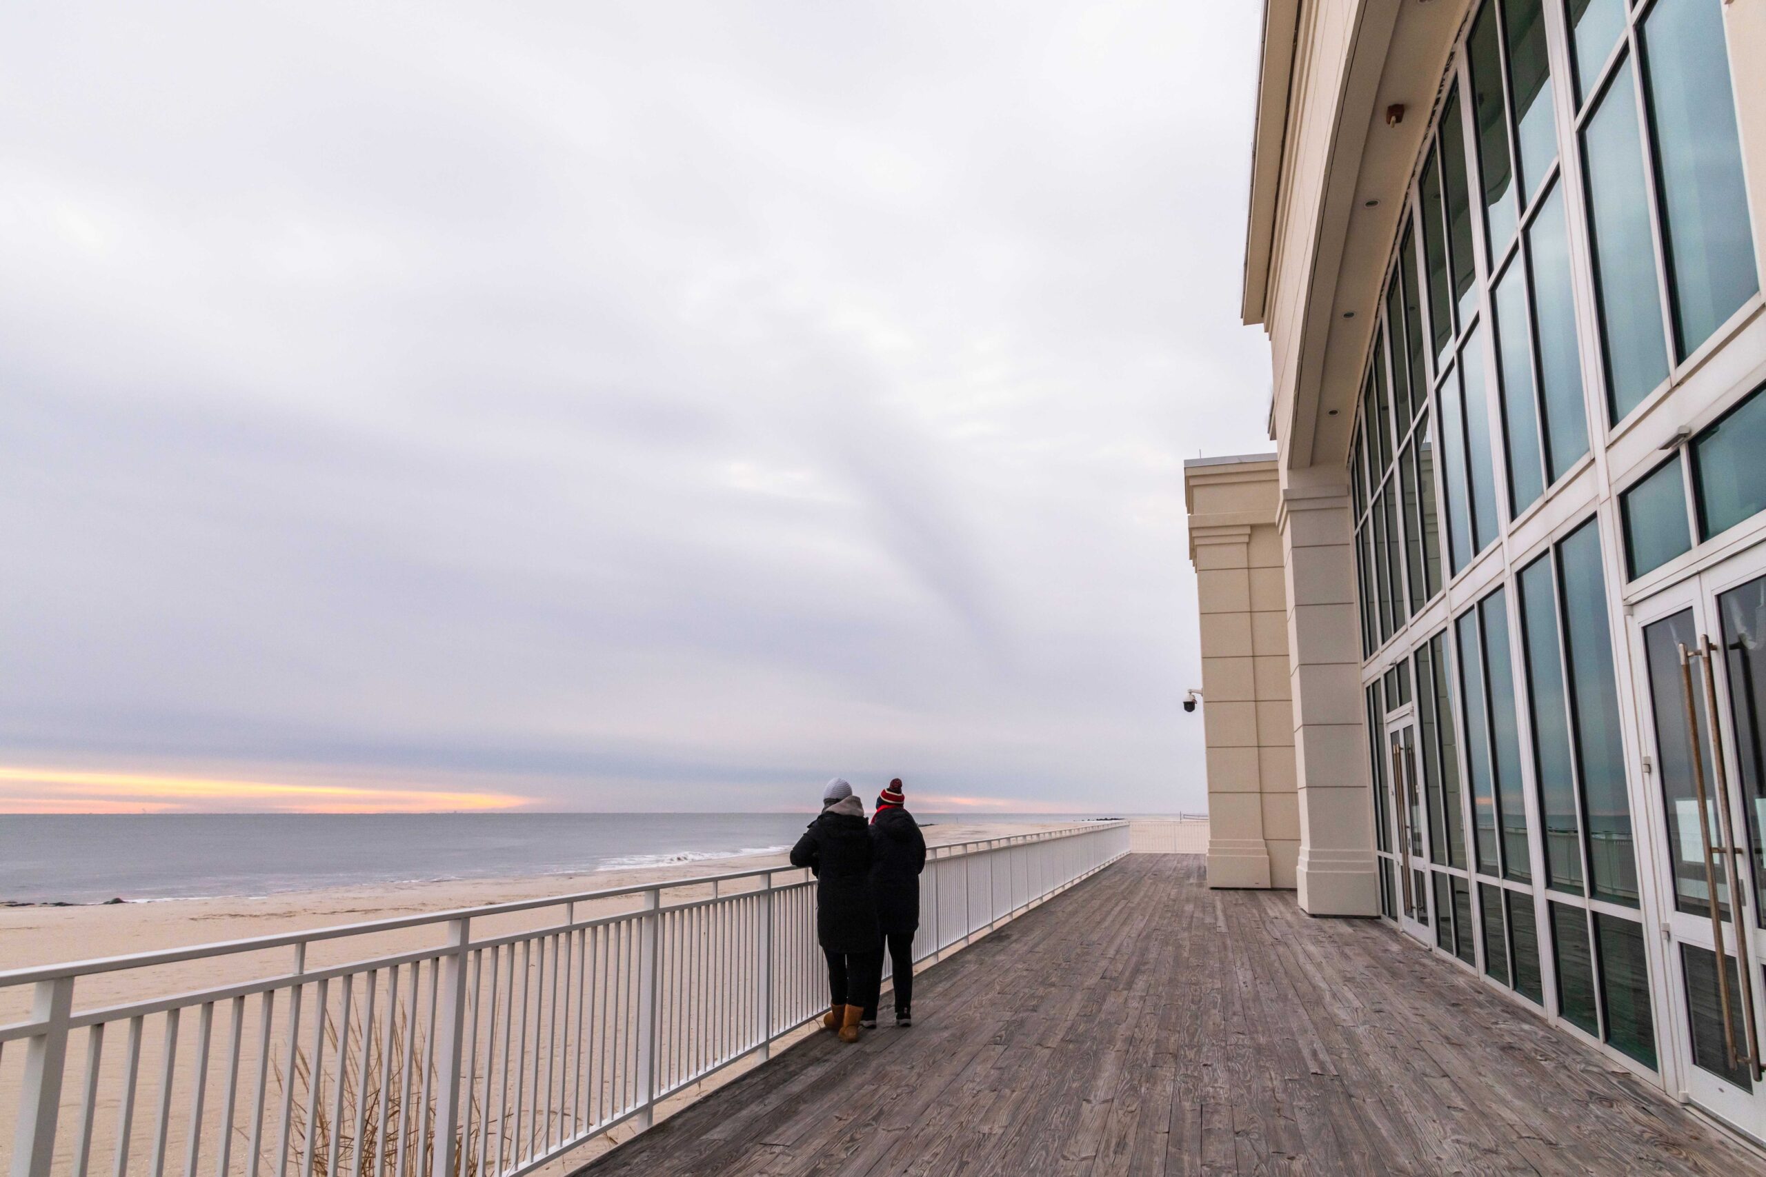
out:
<path id="1" fill-rule="evenodd" d="M 1711 782 L 1711 741 L 1706 734 L 1704 690 L 1699 686 L 1701 669 L 1692 665 L 1692 715 L 1699 731 L 1697 755 L 1694 764 L 1692 732 L 1687 731 L 1687 678 L 1679 667 L 1679 646 L 1699 648 L 1699 626 L 1692 619 L 1692 609 L 1683 609 L 1672 618 L 1664 618 L 1644 626 L 1644 660 L 1649 665 L 1649 709 L 1655 718 L 1657 738 L 1657 780 L 1662 787 L 1662 813 L 1667 819 L 1669 858 L 1674 865 L 1674 907 L 1692 916 L 1711 914 L 1711 891 L 1704 875 L 1704 838 L 1699 836 L 1699 792 L 1695 771 L 1704 771 L 1706 796 L 1715 787 Z M 1717 808 L 1708 810 L 1711 845 L 1722 845 L 1724 838 L 1717 826 Z M 1729 884 L 1724 872 L 1717 877 L 1717 903 L 1724 918 L 1729 918 Z"/>

